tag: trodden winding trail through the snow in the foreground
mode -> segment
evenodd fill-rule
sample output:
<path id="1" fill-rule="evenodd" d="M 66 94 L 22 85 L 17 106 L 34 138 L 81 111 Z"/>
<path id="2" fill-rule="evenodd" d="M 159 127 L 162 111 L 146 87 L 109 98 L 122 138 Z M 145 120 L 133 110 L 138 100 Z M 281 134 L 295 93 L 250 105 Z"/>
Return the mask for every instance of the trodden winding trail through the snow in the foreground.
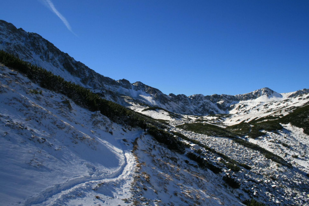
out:
<path id="1" fill-rule="evenodd" d="M 98 196 L 100 196 L 102 202 L 106 203 L 113 198 L 116 199 L 116 197 L 118 201 L 122 200 L 122 198 L 119 198 L 120 196 L 131 197 L 130 189 L 136 168 L 136 160 L 132 154 L 132 144 L 125 145 L 121 143 L 120 145 L 123 158 L 115 172 L 99 176 L 78 177 L 62 184 L 53 185 L 28 198 L 24 205 L 75 205 L 75 201 L 81 202 L 82 199 Z M 104 185 L 104 188 L 101 188 L 102 185 Z M 108 187 L 108 190 L 106 187 Z M 86 205 L 88 205 L 89 200 L 86 202 Z"/>

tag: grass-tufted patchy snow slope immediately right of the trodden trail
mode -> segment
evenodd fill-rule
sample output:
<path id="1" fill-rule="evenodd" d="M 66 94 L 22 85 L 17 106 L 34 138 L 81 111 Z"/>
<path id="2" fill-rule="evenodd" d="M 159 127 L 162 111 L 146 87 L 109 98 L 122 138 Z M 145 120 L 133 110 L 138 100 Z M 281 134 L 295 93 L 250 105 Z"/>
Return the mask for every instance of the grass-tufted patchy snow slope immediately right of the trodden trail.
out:
<path id="1" fill-rule="evenodd" d="M 240 206 L 241 190 L 230 191 L 220 176 L 142 135 L 137 141 L 140 175 L 136 177 L 135 202 L 141 205 Z M 186 162 L 187 161 L 187 162 Z M 241 195 L 240 195 L 241 194 Z"/>

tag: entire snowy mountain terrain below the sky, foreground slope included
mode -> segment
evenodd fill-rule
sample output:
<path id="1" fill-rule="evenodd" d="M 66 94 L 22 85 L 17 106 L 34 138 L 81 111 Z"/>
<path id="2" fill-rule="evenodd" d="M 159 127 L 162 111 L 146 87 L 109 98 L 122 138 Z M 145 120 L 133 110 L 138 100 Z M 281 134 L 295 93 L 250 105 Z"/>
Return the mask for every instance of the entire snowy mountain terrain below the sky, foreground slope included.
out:
<path id="1" fill-rule="evenodd" d="M 166 95 L 4 20 L 0 50 L 1 205 L 309 206 L 309 89 Z"/>

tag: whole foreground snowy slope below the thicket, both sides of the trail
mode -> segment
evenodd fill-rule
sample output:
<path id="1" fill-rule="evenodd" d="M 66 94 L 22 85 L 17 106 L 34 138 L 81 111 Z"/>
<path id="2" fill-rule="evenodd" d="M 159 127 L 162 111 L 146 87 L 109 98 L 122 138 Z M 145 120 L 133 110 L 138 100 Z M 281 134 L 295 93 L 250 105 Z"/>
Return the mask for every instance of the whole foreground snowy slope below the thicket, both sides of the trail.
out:
<path id="1" fill-rule="evenodd" d="M 203 175 L 204 170 L 188 165 L 185 156 L 168 150 L 150 135 L 143 135 L 144 130 L 113 123 L 99 112 L 81 108 L 66 96 L 41 88 L 1 64 L 0 84 L 0 205 L 99 206 L 150 202 L 185 206 L 193 203 L 192 184 L 203 185 L 194 189 L 194 194 L 200 196 L 196 202 L 241 205 L 233 193 L 218 187 L 223 184 L 220 177 L 212 180 L 215 175 L 210 171 Z M 177 168 L 166 171 L 160 169 L 159 162 L 148 162 L 146 158 L 150 156 L 143 156 L 148 147 L 158 150 L 151 156 L 154 161 L 160 158 L 166 161 L 168 154 L 171 160 L 179 161 Z M 168 182 L 171 183 L 173 189 L 168 193 L 173 194 L 172 199 L 165 190 L 153 193 L 159 185 L 141 192 L 144 170 L 150 172 L 143 161 L 153 171 L 153 177 L 161 176 L 152 181 L 163 181 L 160 184 L 167 188 Z M 182 171 L 177 175 L 181 175 L 179 180 L 166 179 L 179 170 Z"/>

